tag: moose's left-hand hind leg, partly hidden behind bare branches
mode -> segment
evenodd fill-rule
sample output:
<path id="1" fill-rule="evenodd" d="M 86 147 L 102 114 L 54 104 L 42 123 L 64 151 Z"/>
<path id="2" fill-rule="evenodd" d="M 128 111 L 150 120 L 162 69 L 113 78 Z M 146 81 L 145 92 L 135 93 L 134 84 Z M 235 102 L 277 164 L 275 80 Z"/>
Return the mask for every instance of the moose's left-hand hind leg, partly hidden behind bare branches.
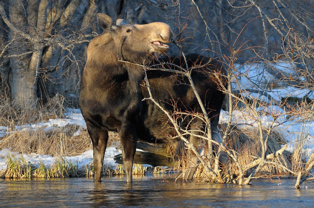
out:
<path id="1" fill-rule="evenodd" d="M 191 128 L 191 133 L 198 135 L 199 132 L 197 130 L 200 130 L 200 129 L 197 127 L 193 127 L 193 128 Z M 197 136 L 190 135 L 189 143 L 193 144 L 193 146 L 195 148 L 197 148 L 199 141 L 200 141 L 200 139 Z M 189 157 L 188 157 L 189 161 L 188 161 L 187 171 L 184 175 L 184 178 L 186 180 L 192 180 L 193 175 L 195 174 L 195 171 L 197 169 L 199 160 L 198 160 L 198 157 L 196 156 L 196 154 L 191 149 L 188 150 L 188 154 L 189 154 Z"/>

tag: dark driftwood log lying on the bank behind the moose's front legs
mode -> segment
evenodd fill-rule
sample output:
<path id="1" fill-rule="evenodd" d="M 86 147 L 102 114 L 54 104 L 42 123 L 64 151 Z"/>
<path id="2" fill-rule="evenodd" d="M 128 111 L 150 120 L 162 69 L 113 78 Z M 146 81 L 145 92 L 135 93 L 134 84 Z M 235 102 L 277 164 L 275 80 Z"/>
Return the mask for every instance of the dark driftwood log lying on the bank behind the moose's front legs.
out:
<path id="1" fill-rule="evenodd" d="M 133 163 L 136 164 L 149 164 L 156 166 L 168 166 L 174 165 L 174 158 L 167 154 L 167 150 L 162 147 L 156 147 L 145 142 L 138 142 L 136 148 L 142 151 L 136 151 L 133 159 Z M 123 164 L 122 154 L 117 154 L 114 157 L 116 163 Z"/>

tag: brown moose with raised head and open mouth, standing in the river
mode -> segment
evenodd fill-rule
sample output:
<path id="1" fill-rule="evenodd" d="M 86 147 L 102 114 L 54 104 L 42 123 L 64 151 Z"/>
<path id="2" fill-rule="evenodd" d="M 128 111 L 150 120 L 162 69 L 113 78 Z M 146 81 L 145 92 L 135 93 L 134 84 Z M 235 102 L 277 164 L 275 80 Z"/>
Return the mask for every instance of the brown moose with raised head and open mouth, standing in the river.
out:
<path id="1" fill-rule="evenodd" d="M 151 63 L 152 54 L 165 54 L 169 49 L 167 44 L 175 37 L 166 23 L 128 24 L 126 20 L 118 19 L 114 24 L 109 16 L 102 13 L 97 14 L 97 19 L 103 33 L 93 38 L 87 48 L 79 94 L 79 107 L 93 144 L 94 182 L 101 180 L 108 131 L 119 134 L 126 181 L 132 182 L 138 140 L 174 142 L 169 137 L 175 134 L 174 129 L 165 127 L 165 113 L 151 100 L 143 99 L 149 97 L 143 65 Z M 224 68 L 218 61 L 202 55 L 191 54 L 185 58 L 164 57 L 158 61 L 173 63 L 168 65 L 169 68 L 175 65 L 183 68 L 186 65 L 202 66 L 192 71 L 192 79 L 207 109 L 212 136 L 221 141 L 218 122 L 225 94 L 218 89 L 218 83 L 225 83 L 226 86 L 226 80 L 221 76 L 219 82 L 217 76 L 210 73 L 224 74 Z M 148 70 L 147 79 L 154 99 L 167 111 L 173 112 L 173 103 L 176 103 L 176 108 L 181 111 L 202 112 L 191 86 L 182 84 L 184 77 L 168 71 Z M 199 122 L 189 125 L 191 128 L 204 126 Z M 199 140 L 195 135 L 188 139 L 192 143 Z M 190 155 L 195 158 L 195 154 Z M 186 179 L 192 179 L 195 169 L 192 168 Z"/>

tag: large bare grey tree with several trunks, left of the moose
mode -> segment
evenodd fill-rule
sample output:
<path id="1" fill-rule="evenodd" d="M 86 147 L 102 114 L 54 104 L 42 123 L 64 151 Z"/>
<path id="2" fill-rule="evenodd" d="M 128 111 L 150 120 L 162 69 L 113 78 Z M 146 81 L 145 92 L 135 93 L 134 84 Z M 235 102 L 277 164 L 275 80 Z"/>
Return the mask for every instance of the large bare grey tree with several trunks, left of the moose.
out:
<path id="1" fill-rule="evenodd" d="M 95 35 L 91 22 L 98 12 L 97 3 L 16 0 L 0 4 L 1 18 L 8 28 L 2 31 L 0 58 L 1 65 L 6 66 L 2 74 L 12 74 L 12 80 L 6 80 L 17 104 L 36 104 L 39 78 L 46 77 L 57 84 L 70 65 L 81 69 L 79 56 L 84 50 L 74 48 Z"/>

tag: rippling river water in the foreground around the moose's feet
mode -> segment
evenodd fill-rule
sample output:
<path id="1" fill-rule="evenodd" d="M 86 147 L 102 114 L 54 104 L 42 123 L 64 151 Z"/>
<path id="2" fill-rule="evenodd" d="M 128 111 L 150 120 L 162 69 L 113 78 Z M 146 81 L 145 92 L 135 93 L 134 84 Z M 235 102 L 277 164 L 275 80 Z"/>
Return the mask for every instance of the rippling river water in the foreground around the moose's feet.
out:
<path id="1" fill-rule="evenodd" d="M 257 179 L 253 185 L 177 181 L 173 175 L 66 179 L 0 179 L 0 207 L 313 207 L 314 182 Z M 280 184 L 281 183 L 281 184 Z M 279 185 L 278 185 L 279 184 Z M 306 188 L 307 186 L 308 188 Z"/>

